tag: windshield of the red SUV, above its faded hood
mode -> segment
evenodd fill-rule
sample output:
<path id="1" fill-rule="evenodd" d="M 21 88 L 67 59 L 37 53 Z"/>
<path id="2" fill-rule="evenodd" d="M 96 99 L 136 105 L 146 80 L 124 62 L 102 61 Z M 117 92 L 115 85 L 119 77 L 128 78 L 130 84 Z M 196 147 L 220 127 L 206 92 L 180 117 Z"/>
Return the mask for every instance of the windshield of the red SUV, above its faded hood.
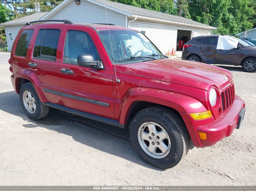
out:
<path id="1" fill-rule="evenodd" d="M 100 30 L 99 36 L 114 64 L 165 58 L 142 33 L 133 30 Z"/>

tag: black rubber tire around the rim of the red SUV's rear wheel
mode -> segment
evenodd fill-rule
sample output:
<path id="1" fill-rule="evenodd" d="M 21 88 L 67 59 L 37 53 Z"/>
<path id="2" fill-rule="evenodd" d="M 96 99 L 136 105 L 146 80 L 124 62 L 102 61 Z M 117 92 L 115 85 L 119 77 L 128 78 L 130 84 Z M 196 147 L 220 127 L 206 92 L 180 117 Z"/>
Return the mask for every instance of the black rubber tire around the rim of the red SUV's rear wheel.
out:
<path id="1" fill-rule="evenodd" d="M 30 113 L 24 105 L 25 103 L 23 102 L 23 93 L 25 91 L 29 91 L 35 99 L 36 108 L 34 110 L 34 113 Z M 27 116 L 31 119 L 42 119 L 45 116 L 47 116 L 49 113 L 49 107 L 42 104 L 31 82 L 25 83 L 21 86 L 20 102 L 23 110 L 25 111 Z"/>

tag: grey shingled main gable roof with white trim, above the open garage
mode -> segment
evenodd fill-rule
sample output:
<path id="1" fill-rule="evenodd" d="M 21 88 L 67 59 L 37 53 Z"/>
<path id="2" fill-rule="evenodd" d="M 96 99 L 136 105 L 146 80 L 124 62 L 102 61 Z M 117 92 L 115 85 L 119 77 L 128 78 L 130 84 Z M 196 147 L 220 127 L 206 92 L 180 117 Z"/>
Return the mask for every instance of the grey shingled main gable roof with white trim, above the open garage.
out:
<path id="1" fill-rule="evenodd" d="M 62 3 L 60 3 L 58 6 L 56 6 L 52 11 L 48 12 L 44 17 L 41 19 L 47 19 L 50 18 L 53 14 L 58 12 L 60 9 L 65 7 L 68 3 L 72 2 L 73 0 L 64 0 Z M 159 20 L 159 21 L 169 21 L 177 24 L 186 24 L 186 25 L 193 25 L 203 28 L 209 28 L 209 29 L 216 29 L 215 27 L 211 27 L 206 24 L 202 24 L 184 17 L 179 17 L 171 14 L 161 13 L 157 11 L 152 11 L 144 8 L 139 8 L 131 5 L 125 5 L 118 2 L 112 2 L 107 0 L 86 0 L 91 3 L 95 3 L 97 5 L 100 5 L 102 7 L 111 9 L 113 11 L 119 12 L 121 14 L 125 14 L 129 17 L 138 17 L 138 18 L 145 18 L 145 19 L 153 19 L 153 20 Z"/>

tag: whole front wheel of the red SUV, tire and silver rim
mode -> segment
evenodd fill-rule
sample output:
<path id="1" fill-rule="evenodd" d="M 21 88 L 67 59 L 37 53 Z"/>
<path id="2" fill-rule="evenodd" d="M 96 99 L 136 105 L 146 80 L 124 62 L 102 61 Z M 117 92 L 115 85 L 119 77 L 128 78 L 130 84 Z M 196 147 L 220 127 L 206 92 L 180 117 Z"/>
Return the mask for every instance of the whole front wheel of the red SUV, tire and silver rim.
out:
<path id="1" fill-rule="evenodd" d="M 131 142 L 138 155 L 158 168 L 171 168 L 187 154 L 190 138 L 181 117 L 162 107 L 149 107 L 130 124 Z"/>

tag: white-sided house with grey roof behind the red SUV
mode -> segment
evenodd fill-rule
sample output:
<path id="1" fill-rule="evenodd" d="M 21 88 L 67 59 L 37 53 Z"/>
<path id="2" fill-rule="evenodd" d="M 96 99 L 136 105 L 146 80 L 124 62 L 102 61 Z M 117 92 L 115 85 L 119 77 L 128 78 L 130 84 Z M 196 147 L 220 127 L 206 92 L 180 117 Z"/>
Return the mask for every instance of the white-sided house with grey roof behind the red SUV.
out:
<path id="1" fill-rule="evenodd" d="M 64 0 L 52 11 L 44 14 L 40 20 L 42 19 L 67 19 L 73 23 L 109 23 L 132 28 L 145 34 L 163 54 L 168 49 L 175 48 L 181 39 L 185 39 L 186 42 L 191 37 L 208 35 L 212 29 L 216 29 L 183 17 L 107 0 Z M 33 20 L 38 19 L 27 19 L 27 21 Z M 7 23 L 1 25 L 5 25 L 7 38 L 8 32 L 13 30 L 14 39 L 18 27 L 12 29 L 11 25 L 6 25 Z M 12 42 L 8 41 L 9 51 Z"/>

